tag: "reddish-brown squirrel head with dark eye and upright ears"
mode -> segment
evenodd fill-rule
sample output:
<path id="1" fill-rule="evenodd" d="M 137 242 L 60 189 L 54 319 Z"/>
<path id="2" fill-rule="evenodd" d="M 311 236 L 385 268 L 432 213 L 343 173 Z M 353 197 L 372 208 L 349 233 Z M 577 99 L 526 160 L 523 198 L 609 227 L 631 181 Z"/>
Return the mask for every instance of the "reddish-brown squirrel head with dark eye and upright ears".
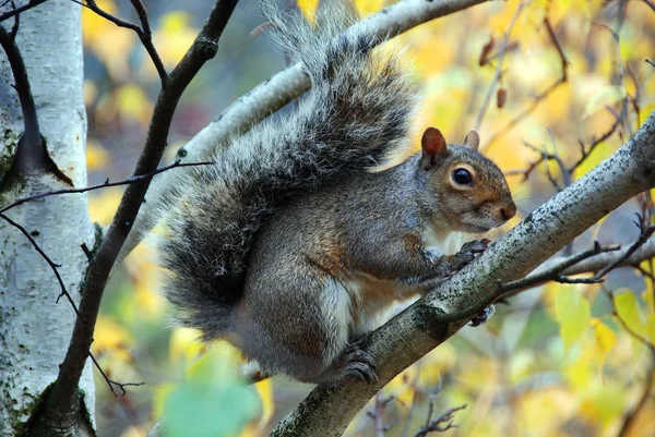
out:
<path id="1" fill-rule="evenodd" d="M 449 145 L 436 128 L 425 131 L 418 172 L 431 198 L 421 203 L 431 210 L 436 227 L 483 233 L 516 214 L 504 175 L 480 155 L 479 144 L 476 131 L 468 132 L 461 145 Z"/>

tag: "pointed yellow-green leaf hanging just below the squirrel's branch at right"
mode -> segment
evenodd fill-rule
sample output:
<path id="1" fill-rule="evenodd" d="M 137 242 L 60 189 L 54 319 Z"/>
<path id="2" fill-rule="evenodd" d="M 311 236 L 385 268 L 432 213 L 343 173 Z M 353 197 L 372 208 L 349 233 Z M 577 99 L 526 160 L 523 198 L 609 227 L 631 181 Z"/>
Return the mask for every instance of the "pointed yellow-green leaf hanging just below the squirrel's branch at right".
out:
<path id="1" fill-rule="evenodd" d="M 560 324 L 564 349 L 569 351 L 590 324 L 590 302 L 582 295 L 580 288 L 560 289 L 555 298 L 555 315 Z"/>

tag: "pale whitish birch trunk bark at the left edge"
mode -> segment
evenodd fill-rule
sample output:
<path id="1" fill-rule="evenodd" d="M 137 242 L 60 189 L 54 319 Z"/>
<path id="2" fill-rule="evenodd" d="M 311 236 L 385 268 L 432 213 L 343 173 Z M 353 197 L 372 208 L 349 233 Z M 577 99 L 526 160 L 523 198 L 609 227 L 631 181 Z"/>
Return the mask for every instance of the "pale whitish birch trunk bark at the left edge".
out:
<path id="1" fill-rule="evenodd" d="M 7 8 L 11 8 L 9 4 Z M 66 23 L 66 25 L 62 25 Z M 2 23 L 10 29 L 13 19 Z M 82 96 L 81 9 L 67 0 L 50 0 L 21 14 L 16 44 L 26 64 L 40 133 L 59 171 L 75 187 L 86 185 L 86 113 Z M 0 173 L 4 173 L 23 134 L 23 113 L 15 80 L 0 50 Z M 1 177 L 2 174 L 0 174 Z M 66 178 L 49 171 L 24 172 L 0 189 L 0 205 L 57 189 L 70 189 Z M 86 194 L 51 196 L 7 213 L 38 246 L 60 264 L 68 292 L 79 301 L 87 260 L 80 248 L 95 244 Z M 0 220 L 0 435 L 25 429 L 57 378 L 68 349 L 75 314 L 57 278 L 21 231 Z M 74 426 L 88 435 L 94 415 L 94 385 L 87 363 L 80 384 L 84 414 Z"/>

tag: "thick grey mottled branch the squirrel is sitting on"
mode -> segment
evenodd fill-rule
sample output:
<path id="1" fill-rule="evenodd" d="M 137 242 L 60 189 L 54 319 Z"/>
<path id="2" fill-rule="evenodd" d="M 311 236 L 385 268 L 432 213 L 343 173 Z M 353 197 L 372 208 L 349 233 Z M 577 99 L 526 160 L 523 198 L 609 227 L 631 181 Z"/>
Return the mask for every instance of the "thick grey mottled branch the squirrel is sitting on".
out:
<path id="1" fill-rule="evenodd" d="M 272 435 L 340 436 L 380 388 L 457 332 L 480 303 L 493 301 L 499 283 L 529 274 L 598 219 L 653 186 L 655 112 L 610 158 L 526 217 L 457 275 L 369 335 L 365 349 L 378 363 L 379 384 L 317 387 Z"/>

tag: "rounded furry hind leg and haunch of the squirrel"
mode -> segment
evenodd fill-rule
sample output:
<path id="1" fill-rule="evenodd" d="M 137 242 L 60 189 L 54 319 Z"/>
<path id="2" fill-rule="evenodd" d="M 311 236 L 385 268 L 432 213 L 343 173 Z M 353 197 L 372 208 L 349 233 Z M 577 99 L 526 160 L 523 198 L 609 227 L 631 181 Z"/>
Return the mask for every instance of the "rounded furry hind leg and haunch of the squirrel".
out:
<path id="1" fill-rule="evenodd" d="M 247 281 L 235 324 L 235 344 L 252 360 L 251 380 L 285 374 L 302 383 L 326 381 L 326 368 L 348 345 L 350 296 L 311 266 L 258 271 Z M 317 299 L 317 296 L 319 299 Z"/>

